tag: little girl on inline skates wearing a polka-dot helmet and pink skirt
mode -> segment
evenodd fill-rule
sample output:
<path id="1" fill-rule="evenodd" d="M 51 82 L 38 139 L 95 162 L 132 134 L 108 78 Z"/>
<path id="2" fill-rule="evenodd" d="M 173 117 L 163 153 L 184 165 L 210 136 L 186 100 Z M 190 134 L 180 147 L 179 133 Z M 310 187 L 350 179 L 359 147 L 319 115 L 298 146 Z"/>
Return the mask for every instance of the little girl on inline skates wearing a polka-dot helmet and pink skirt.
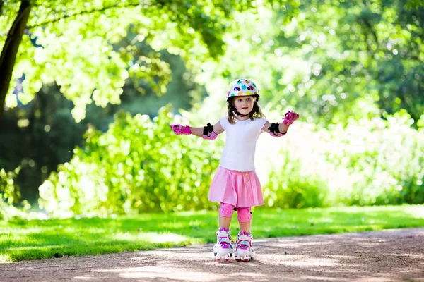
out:
<path id="1" fill-rule="evenodd" d="M 252 248 L 251 208 L 264 204 L 261 183 L 254 171 L 254 152 L 259 135 L 269 133 L 281 137 L 289 126 L 299 118 L 294 111 L 288 111 L 282 123 L 269 123 L 257 103 L 259 90 L 252 80 L 240 78 L 230 83 L 226 95 L 227 116 L 215 124 L 208 123 L 204 128 L 191 128 L 188 125 L 170 125 L 175 134 L 193 134 L 204 139 L 214 140 L 227 130 L 227 140 L 220 159 L 220 165 L 209 189 L 209 200 L 220 202 L 219 228 L 213 255 L 219 261 L 228 261 L 235 253 L 235 259 L 254 259 Z M 240 233 L 237 235 L 235 251 L 231 245 L 230 223 L 232 213 L 237 211 Z"/>

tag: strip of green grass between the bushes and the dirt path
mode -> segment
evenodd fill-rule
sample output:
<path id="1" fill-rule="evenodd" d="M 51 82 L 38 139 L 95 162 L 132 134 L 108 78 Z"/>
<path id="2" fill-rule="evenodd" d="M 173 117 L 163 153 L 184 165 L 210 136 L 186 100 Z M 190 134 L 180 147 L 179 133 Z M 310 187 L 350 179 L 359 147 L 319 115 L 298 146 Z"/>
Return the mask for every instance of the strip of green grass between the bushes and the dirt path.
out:
<path id="1" fill-rule="evenodd" d="M 0 262 L 151 250 L 216 240 L 217 212 L 0 221 Z M 232 219 L 233 236 L 238 231 Z M 424 226 L 424 206 L 256 209 L 255 238 Z"/>

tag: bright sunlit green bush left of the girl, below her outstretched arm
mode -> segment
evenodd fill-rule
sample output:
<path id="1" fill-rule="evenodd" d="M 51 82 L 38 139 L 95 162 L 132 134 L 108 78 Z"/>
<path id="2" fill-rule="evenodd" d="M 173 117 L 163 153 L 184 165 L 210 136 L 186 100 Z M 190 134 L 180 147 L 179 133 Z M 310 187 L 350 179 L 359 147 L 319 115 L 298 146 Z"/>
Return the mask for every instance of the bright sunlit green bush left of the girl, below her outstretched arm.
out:
<path id="1" fill-rule="evenodd" d="M 162 109 L 153 121 L 120 113 L 104 134 L 89 128 L 84 147 L 40 186 L 40 207 L 53 214 L 110 214 L 213 206 L 206 195 L 220 142 L 171 134 L 168 112 Z"/>

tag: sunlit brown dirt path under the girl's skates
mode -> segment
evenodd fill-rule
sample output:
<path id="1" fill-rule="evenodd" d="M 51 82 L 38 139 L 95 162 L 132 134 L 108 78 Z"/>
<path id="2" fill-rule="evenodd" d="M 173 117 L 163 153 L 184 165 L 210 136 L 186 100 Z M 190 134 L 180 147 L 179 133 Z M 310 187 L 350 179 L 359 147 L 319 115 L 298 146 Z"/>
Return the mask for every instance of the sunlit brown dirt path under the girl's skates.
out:
<path id="1" fill-rule="evenodd" d="M 254 262 L 212 245 L 0 264 L 0 281 L 424 281 L 424 228 L 256 240 Z"/>

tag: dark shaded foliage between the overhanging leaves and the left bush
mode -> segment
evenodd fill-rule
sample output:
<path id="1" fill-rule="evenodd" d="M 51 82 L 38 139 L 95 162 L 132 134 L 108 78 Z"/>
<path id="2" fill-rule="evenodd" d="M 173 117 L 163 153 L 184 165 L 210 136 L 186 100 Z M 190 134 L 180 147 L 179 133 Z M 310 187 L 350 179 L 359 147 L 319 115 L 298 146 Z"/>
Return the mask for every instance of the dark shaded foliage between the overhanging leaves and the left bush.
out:
<path id="1" fill-rule="evenodd" d="M 193 74 L 185 68 L 182 59 L 166 51 L 160 54 L 172 70 L 172 80 L 160 97 L 148 85 L 138 81 L 136 86 L 136 81 L 129 78 L 119 106 L 108 104 L 102 108 L 90 104 L 86 118 L 76 123 L 71 114 L 73 103 L 61 94 L 57 85 L 51 85 L 43 86 L 30 104 L 20 104 L 5 111 L 0 123 L 0 168 L 13 170 L 20 166 L 14 183 L 20 186 L 24 199 L 37 202 L 38 187 L 59 164 L 71 160 L 76 145 L 83 145 L 83 133 L 88 124 L 106 131 L 117 111 L 153 117 L 169 102 L 175 107 L 189 109 L 192 101 L 201 99 L 204 88 L 191 80 Z M 140 95 L 140 92 L 145 94 Z"/>

